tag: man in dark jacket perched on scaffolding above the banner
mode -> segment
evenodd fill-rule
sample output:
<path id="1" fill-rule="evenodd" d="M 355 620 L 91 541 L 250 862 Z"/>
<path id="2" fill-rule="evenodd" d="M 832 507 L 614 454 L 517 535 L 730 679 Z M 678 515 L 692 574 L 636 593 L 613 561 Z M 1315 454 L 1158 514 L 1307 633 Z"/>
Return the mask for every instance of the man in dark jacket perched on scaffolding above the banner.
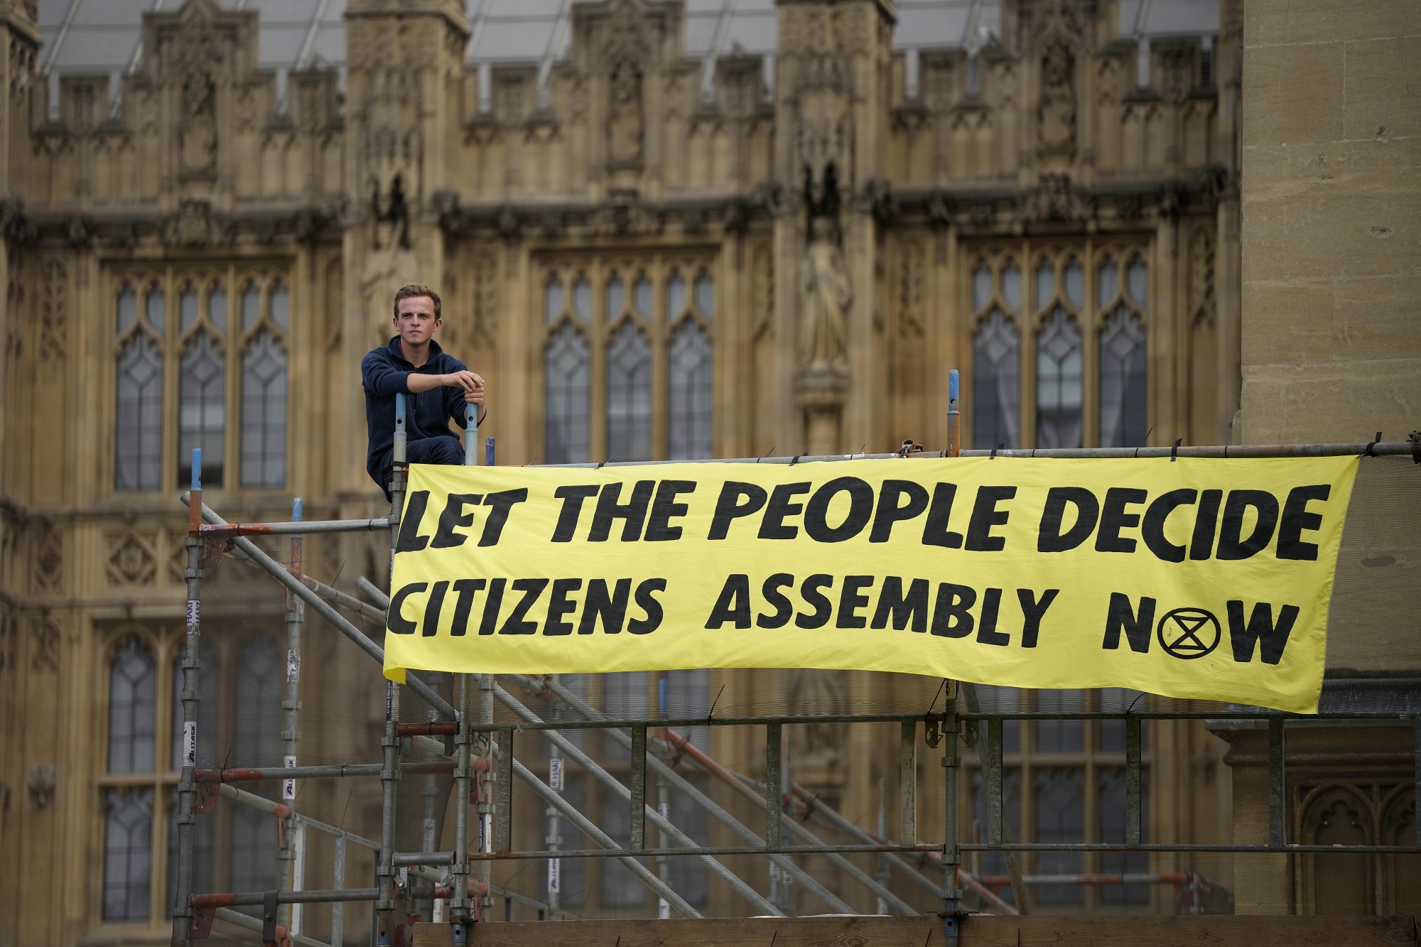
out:
<path id="1" fill-rule="evenodd" d="M 443 324 L 441 314 L 439 293 L 423 283 L 401 286 L 395 293 L 398 334 L 361 360 L 369 434 L 365 469 L 387 499 L 394 469 L 396 394 L 406 395 L 405 458 L 409 464 L 463 464 L 463 445 L 449 431 L 449 419 L 466 427 L 465 405 L 485 404 L 483 378 L 433 340 Z"/>

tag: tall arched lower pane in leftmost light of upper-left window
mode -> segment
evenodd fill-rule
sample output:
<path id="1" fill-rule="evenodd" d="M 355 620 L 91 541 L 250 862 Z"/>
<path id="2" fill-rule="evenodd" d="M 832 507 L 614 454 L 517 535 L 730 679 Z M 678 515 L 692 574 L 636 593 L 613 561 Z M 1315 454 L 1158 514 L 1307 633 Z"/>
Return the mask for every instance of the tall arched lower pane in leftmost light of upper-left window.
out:
<path id="1" fill-rule="evenodd" d="M 161 485 L 163 444 L 163 357 L 142 331 L 118 355 L 117 401 L 114 486 L 155 491 Z"/>

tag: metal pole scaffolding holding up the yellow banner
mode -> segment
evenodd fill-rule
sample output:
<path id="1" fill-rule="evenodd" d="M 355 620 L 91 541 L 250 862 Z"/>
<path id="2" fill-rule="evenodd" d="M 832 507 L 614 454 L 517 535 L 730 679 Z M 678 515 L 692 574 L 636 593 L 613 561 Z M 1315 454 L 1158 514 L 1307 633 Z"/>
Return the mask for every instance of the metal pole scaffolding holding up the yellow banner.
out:
<path id="1" fill-rule="evenodd" d="M 1405 442 L 1322 444 L 1302 446 L 1181 446 L 1172 448 L 1084 448 L 1084 449 L 995 449 L 966 451 L 959 446 L 959 400 L 956 371 L 951 373 L 948 405 L 948 446 L 941 452 L 925 452 L 907 442 L 895 454 L 851 454 L 828 456 L 743 458 L 720 462 L 799 464 L 833 462 L 843 459 L 898 459 L 925 456 L 1037 456 L 1037 458 L 1259 458 L 1259 456 L 1412 456 L 1421 464 L 1421 435 L 1412 432 Z M 790 884 L 811 894 L 831 913 L 858 913 L 824 882 L 796 863 L 796 857 L 821 856 L 864 892 L 870 893 L 880 913 L 919 916 L 905 897 L 895 890 L 894 880 L 941 899 L 942 933 L 948 944 L 956 943 L 958 921 L 969 910 L 1015 914 L 1025 911 L 1029 886 L 1063 884 L 1161 884 L 1172 886 L 1182 913 L 1208 913 L 1229 909 L 1229 893 L 1199 873 L 1117 873 L 1117 874 L 1023 874 L 1016 853 L 1025 852 L 1172 852 L 1172 853 L 1374 853 L 1400 855 L 1421 852 L 1421 822 L 1415 825 L 1412 845 L 1307 845 L 1290 840 L 1285 819 L 1286 768 L 1285 739 L 1287 722 L 1296 715 L 1259 708 L 1229 708 L 1231 721 L 1252 721 L 1266 729 L 1268 769 L 1268 842 L 1262 845 L 1225 843 L 1158 843 L 1145 842 L 1141 833 L 1141 725 L 1144 721 L 1214 719 L 1218 711 L 985 711 L 976 688 L 969 683 L 945 681 L 942 708 L 938 701 L 926 712 L 917 714 L 814 714 L 814 715 L 725 715 L 675 718 L 666 712 L 665 681 L 662 681 L 659 715 L 657 718 L 612 718 L 598 711 L 557 675 L 527 677 L 517 674 L 493 675 L 459 674 L 456 677 L 455 707 L 435 687 L 415 673 L 406 685 L 385 683 L 385 712 L 381 735 L 381 759 L 367 764 L 300 765 L 300 673 L 301 633 L 306 611 L 311 610 L 361 651 L 375 661 L 384 661 L 384 650 L 341 610 L 372 619 L 384 624 L 388 597 L 374 583 L 361 577 L 360 587 L 369 601 L 350 596 L 307 574 L 303 566 L 303 537 L 315 533 L 384 532 L 391 537 L 391 563 L 399 533 L 399 519 L 405 493 L 406 434 L 405 397 L 396 397 L 394 438 L 394 479 L 391 509 L 385 518 L 304 520 L 301 501 L 293 505 L 291 520 L 271 523 L 229 523 L 202 501 L 202 452 L 193 451 L 192 483 L 183 499 L 188 505 L 186 539 L 186 640 L 180 670 L 182 701 L 182 769 L 178 786 L 178 865 L 173 903 L 172 940 L 190 943 L 209 936 L 215 919 L 260 933 L 267 944 L 307 944 L 331 947 L 345 943 L 347 904 L 371 904 L 374 919 L 371 937 L 375 947 L 395 947 L 404 943 L 401 921 L 425 917 L 415 901 L 431 904 L 429 920 L 452 924 L 453 943 L 466 944 L 469 924 L 493 920 L 495 906 L 503 903 L 503 919 L 513 917 L 514 906 L 523 906 L 543 919 L 571 919 L 576 914 L 558 901 L 558 866 L 564 859 L 615 859 L 658 899 L 658 914 L 672 913 L 696 919 L 701 913 L 686 901 L 671 883 L 668 870 L 672 857 L 693 857 L 720 879 L 755 914 L 783 917 L 793 913 L 793 901 L 783 896 Z M 470 405 L 465 431 L 465 464 L 477 461 L 479 429 L 476 411 Z M 493 439 L 485 444 L 485 464 L 493 464 Z M 630 465 L 617 464 L 612 465 Z M 601 466 L 601 465 L 563 465 Z M 290 537 L 290 560 L 283 565 L 252 542 L 252 536 L 281 535 Z M 198 721 L 200 641 L 202 641 L 202 582 L 205 570 L 213 569 L 223 555 L 243 560 L 281 584 L 286 596 L 286 678 L 281 700 L 283 765 L 277 768 L 220 768 L 198 766 Z M 544 719 L 520 701 L 509 685 L 536 700 L 547 702 L 551 719 Z M 431 719 L 409 722 L 401 719 L 401 694 L 408 688 L 431 710 Z M 477 707 L 475 701 L 477 700 Z M 513 721 L 495 721 L 495 705 L 502 705 Z M 962 705 L 959 708 L 959 704 Z M 1326 712 L 1309 719 L 1323 721 L 1390 721 L 1393 725 L 1415 728 L 1421 748 L 1421 715 L 1412 712 Z M 1010 823 L 1003 818 L 1003 728 L 1015 721 L 1118 721 L 1124 728 L 1125 748 L 1125 826 L 1123 843 L 1090 842 L 1013 842 Z M 868 832 L 848 819 L 813 792 L 794 781 L 784 755 L 786 728 L 800 724 L 882 724 L 897 727 L 899 734 L 899 823 L 888 832 L 884 806 L 880 806 L 877 832 Z M 698 748 L 684 734 L 692 727 L 755 727 L 764 732 L 764 779 L 755 779 L 719 764 Z M 630 756 L 630 779 L 617 778 L 580 744 L 578 731 L 603 731 Z M 549 778 L 529 769 L 514 758 L 513 745 L 520 734 L 537 734 L 550 744 Z M 918 755 L 926 747 L 941 751 L 946 778 L 944 798 L 936 801 L 945 815 L 944 838 L 919 840 L 917 820 L 919 802 Z M 985 782 L 986 818 L 978 826 L 976 838 L 969 838 L 959 825 L 959 779 L 962 747 L 975 751 Z M 432 759 L 409 759 L 414 754 Z M 737 819 L 710 795 L 686 779 L 675 761 L 708 774 L 728 788 L 735 798 L 763 813 L 762 825 L 747 825 Z M 615 840 L 607 830 L 580 812 L 561 791 L 564 768 L 573 764 L 607 792 L 627 806 L 630 829 L 627 843 Z M 396 846 L 396 785 L 402 776 L 443 775 L 453 781 L 455 826 L 452 850 L 436 850 L 438 839 L 429 828 L 426 798 L 426 829 L 419 852 L 401 852 Z M 648 783 L 648 776 L 654 779 Z M 298 779 L 378 779 L 381 785 L 381 833 L 378 839 L 362 838 L 344 828 L 330 825 L 308 813 L 298 812 L 296 782 Z M 1421 788 L 1421 756 L 1415 769 Z M 270 799 L 243 789 L 247 783 L 279 782 L 279 799 Z M 536 799 L 549 806 L 551 830 L 546 847 L 514 850 L 513 806 L 514 782 L 522 783 Z M 882 781 L 880 782 L 881 792 Z M 652 792 L 655 788 L 655 792 Z M 702 845 L 671 819 L 668 798 L 675 789 L 709 818 L 740 839 L 739 845 Z M 428 793 L 426 793 L 428 796 Z M 274 818 L 279 835 L 280 887 L 261 892 L 195 892 L 195 839 L 198 820 L 210 813 L 219 798 L 253 808 Z M 472 812 L 470 812 L 472 809 Z M 472 820 L 470 820 L 472 818 Z M 566 820 L 591 839 L 594 847 L 563 849 L 558 825 Z M 826 840 L 809 823 L 851 842 Z M 657 830 L 655 842 L 649 829 Z M 333 845 L 333 877 L 337 886 L 307 890 L 307 855 L 311 833 L 328 836 Z M 894 840 L 897 839 L 897 840 Z M 369 887 L 344 887 L 345 859 L 351 846 L 371 853 L 375 863 Z M 999 853 L 1007 870 L 999 874 L 982 873 L 979 865 L 969 865 L 965 856 Z M 850 860 L 854 855 L 878 856 L 880 870 L 864 872 Z M 745 877 L 722 860 L 728 856 L 756 856 L 770 863 L 770 894 L 760 893 Z M 655 859 L 652 872 L 642 859 Z M 496 860 L 546 860 L 549 863 L 547 900 L 537 900 L 493 884 L 490 869 Z M 941 870 L 941 883 L 924 873 L 924 867 Z M 972 869 L 976 870 L 972 870 Z M 776 892 L 779 884 L 780 892 Z M 1010 901 L 1003 897 L 1010 892 Z M 331 906 L 330 940 L 307 936 L 303 909 L 307 904 Z M 260 907 L 253 917 L 237 907 Z"/>

